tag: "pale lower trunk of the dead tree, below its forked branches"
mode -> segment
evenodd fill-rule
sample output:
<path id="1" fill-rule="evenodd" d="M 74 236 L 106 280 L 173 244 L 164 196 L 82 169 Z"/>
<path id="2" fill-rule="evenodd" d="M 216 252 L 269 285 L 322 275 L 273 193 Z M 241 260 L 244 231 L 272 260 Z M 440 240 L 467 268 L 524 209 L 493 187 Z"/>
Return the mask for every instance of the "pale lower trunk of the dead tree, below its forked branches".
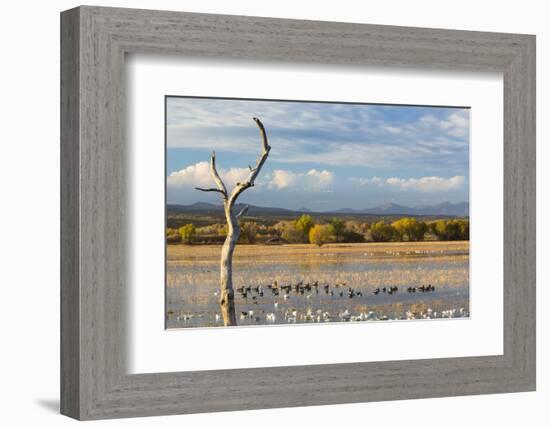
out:
<path id="1" fill-rule="evenodd" d="M 240 227 L 237 215 L 233 212 L 233 204 L 224 203 L 227 220 L 227 237 L 222 247 L 220 258 L 220 307 L 225 326 L 236 326 L 235 291 L 233 290 L 233 252 L 239 240 Z"/>

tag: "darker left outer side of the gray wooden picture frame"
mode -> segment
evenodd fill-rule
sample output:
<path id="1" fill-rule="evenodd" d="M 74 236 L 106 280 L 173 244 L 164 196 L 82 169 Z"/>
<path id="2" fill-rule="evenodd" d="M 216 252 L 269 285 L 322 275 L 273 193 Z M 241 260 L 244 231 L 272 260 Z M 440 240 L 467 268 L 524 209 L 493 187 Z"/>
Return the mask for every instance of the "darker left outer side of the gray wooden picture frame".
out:
<path id="1" fill-rule="evenodd" d="M 79 13 L 61 20 L 61 412 L 80 414 Z"/>

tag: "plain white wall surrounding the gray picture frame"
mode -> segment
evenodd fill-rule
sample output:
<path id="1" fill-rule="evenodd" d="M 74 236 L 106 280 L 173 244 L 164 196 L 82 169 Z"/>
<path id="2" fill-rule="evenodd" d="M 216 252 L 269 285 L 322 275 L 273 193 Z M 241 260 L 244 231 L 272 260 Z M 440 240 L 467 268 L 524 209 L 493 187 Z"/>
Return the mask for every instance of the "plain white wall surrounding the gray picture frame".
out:
<path id="1" fill-rule="evenodd" d="M 550 27 L 543 1 L 96 1 L 98 5 L 537 34 L 538 218 L 548 218 Z M 0 375 L 3 425 L 65 425 L 59 360 L 59 11 L 74 1 L 4 2 L 0 65 Z M 545 14 L 546 12 L 546 14 Z M 545 193 L 545 194 L 543 194 Z M 546 196 L 546 197 L 545 197 Z M 538 225 L 536 393 L 111 421 L 111 425 L 547 425 L 548 225 Z M 6 238 L 7 237 L 7 238 Z M 546 238 L 546 241 L 543 241 Z M 32 242 L 30 244 L 29 242 Z M 543 261 L 543 262 L 540 262 Z M 546 304 L 547 305 L 547 304 Z M 529 422 L 529 420 L 531 422 Z M 546 421 L 546 422 L 545 422 Z"/>

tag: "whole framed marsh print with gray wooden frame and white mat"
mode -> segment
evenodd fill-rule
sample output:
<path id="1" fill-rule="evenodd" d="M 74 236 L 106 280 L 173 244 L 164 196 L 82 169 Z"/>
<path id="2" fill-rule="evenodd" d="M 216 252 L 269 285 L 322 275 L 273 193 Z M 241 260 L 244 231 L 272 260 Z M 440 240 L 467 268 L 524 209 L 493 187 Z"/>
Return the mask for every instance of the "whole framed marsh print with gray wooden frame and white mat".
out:
<path id="1" fill-rule="evenodd" d="M 84 6 L 61 40 L 62 413 L 535 389 L 534 36 Z"/>

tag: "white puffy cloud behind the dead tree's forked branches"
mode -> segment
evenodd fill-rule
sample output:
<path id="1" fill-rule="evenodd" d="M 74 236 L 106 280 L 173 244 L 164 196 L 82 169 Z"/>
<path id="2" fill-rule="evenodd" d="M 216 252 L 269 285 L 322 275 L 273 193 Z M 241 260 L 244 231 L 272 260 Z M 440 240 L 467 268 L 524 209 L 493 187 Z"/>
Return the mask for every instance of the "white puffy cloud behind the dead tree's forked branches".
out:
<path id="1" fill-rule="evenodd" d="M 219 170 L 220 177 L 225 185 L 231 187 L 237 182 L 245 179 L 249 170 L 247 168 L 231 168 L 228 170 Z M 212 187 L 215 182 L 210 174 L 210 164 L 208 162 L 199 162 L 189 165 L 184 169 L 172 172 L 167 180 L 171 187 Z"/>

